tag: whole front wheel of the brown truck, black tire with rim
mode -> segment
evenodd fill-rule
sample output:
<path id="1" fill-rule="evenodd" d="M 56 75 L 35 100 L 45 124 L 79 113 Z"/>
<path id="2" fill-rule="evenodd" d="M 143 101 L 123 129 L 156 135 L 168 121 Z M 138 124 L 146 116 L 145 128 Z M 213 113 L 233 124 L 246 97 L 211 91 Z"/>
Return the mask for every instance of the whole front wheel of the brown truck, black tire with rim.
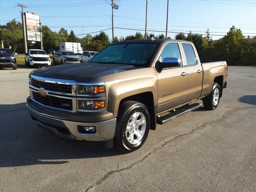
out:
<path id="1" fill-rule="evenodd" d="M 148 108 L 136 101 L 123 102 L 116 122 L 115 148 L 125 153 L 137 150 L 146 141 L 149 129 Z"/>

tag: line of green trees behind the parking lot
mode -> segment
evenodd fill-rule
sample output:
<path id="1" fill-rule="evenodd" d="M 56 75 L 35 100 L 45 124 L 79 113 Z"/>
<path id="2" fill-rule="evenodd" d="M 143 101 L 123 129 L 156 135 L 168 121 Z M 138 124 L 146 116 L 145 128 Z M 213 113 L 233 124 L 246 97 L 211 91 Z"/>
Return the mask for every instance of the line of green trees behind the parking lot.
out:
<path id="1" fill-rule="evenodd" d="M 42 26 L 42 38 L 46 52 L 49 49 L 58 50 L 60 42 L 80 42 L 83 50 L 97 52 L 112 43 L 103 31 L 94 36 L 88 34 L 78 38 L 73 30 L 69 34 L 65 28 L 54 32 L 48 26 Z M 141 32 L 136 32 L 126 37 L 114 37 L 114 42 L 143 38 L 144 35 Z M 151 33 L 147 38 L 165 38 L 165 36 Z M 256 37 L 244 37 L 242 31 L 235 26 L 232 26 L 227 34 L 218 40 L 212 40 L 209 30 L 206 31 L 206 37 L 190 32 L 187 35 L 178 33 L 175 39 L 193 42 L 201 60 L 225 60 L 228 65 L 256 66 Z M 5 47 L 17 46 L 16 52 L 23 53 L 22 24 L 13 19 L 6 25 L 0 25 L 0 40 L 3 40 Z M 40 43 L 32 44 L 28 41 L 28 48 L 40 48 Z"/>

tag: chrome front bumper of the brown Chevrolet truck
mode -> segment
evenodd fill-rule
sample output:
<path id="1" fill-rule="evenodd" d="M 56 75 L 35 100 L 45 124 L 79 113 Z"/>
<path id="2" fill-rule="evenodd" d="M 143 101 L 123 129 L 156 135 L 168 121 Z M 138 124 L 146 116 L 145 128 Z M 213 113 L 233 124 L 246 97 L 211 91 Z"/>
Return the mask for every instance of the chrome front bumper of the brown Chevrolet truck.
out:
<path id="1" fill-rule="evenodd" d="M 61 138 L 69 140 L 87 140 L 87 141 L 103 141 L 114 138 L 116 129 L 116 118 L 103 122 L 73 122 L 64 119 L 55 118 L 46 114 L 41 114 L 28 106 L 28 110 L 32 120 L 39 127 L 48 130 Z M 78 126 L 94 126 L 96 133 L 82 134 L 78 132 Z M 68 130 L 69 134 L 60 130 Z"/>

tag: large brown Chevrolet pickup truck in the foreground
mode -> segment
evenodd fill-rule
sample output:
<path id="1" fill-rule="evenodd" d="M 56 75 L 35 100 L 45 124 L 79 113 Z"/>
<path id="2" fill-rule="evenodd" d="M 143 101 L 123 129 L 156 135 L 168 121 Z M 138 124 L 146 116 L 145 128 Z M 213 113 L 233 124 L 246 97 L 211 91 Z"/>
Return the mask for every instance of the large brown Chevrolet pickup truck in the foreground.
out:
<path id="1" fill-rule="evenodd" d="M 225 61 L 201 62 L 192 42 L 128 40 L 90 62 L 34 70 L 27 106 L 39 127 L 70 140 L 110 140 L 140 148 L 149 130 L 202 106 L 217 108 Z"/>

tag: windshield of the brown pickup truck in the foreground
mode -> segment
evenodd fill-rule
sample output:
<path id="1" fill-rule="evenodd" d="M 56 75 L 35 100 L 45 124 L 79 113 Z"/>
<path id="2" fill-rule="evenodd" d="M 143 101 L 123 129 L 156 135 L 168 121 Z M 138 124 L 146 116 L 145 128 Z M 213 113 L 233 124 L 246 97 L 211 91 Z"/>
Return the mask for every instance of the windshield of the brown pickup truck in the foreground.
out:
<path id="1" fill-rule="evenodd" d="M 116 44 L 106 47 L 90 62 L 148 66 L 157 44 Z"/>

